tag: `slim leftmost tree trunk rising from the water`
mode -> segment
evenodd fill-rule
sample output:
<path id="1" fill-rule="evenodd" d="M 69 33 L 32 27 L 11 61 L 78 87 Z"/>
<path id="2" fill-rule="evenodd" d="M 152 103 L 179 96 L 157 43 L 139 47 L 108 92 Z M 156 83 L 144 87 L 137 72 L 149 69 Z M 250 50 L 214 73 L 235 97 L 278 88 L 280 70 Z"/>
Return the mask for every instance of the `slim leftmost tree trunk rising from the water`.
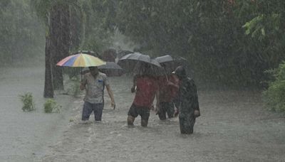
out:
<path id="1" fill-rule="evenodd" d="M 48 18 L 47 18 L 48 19 Z M 49 21 L 46 21 L 46 26 L 49 30 Z M 43 97 L 53 98 L 53 82 L 51 76 L 51 45 L 50 45 L 49 32 L 46 34 L 46 47 L 45 47 L 45 61 L 46 61 L 46 70 L 45 70 L 45 84 L 43 90 Z"/>

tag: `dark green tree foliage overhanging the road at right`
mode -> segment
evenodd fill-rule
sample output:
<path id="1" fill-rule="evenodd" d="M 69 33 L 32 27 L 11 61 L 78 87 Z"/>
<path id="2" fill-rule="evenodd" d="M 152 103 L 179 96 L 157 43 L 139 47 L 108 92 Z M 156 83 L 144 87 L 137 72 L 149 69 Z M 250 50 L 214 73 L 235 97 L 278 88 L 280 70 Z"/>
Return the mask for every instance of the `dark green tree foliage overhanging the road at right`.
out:
<path id="1" fill-rule="evenodd" d="M 257 86 L 284 59 L 285 1 L 120 1 L 119 31 L 154 55 L 180 55 L 195 77 Z M 112 18 L 110 18 L 112 19 Z M 281 21 L 283 20 L 283 21 Z"/>

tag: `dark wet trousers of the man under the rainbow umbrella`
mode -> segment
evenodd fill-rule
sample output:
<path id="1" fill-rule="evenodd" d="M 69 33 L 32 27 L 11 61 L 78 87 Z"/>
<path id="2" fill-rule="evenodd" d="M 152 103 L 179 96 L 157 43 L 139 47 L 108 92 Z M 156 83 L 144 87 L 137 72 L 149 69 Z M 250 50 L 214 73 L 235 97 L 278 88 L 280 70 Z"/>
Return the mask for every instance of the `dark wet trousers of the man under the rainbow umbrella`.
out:
<path id="1" fill-rule="evenodd" d="M 94 112 L 95 121 L 101 121 L 103 112 L 103 103 L 91 104 L 89 102 L 84 102 L 82 111 L 82 120 L 86 121 L 89 119 L 90 114 Z"/>

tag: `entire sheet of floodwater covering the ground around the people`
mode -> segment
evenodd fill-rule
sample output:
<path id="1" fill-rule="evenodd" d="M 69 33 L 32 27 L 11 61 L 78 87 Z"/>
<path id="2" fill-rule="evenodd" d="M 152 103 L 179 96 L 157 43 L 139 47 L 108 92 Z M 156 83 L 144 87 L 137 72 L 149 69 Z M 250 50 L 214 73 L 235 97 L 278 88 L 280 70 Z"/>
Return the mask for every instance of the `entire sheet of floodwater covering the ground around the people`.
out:
<path id="1" fill-rule="evenodd" d="M 11 75 L 17 71 L 19 75 Z M 60 114 L 43 113 L 43 69 L 1 73 L 1 154 L 4 161 L 285 161 L 284 114 L 268 112 L 261 93 L 199 90 L 202 116 L 194 134 L 181 135 L 178 119 L 128 128 L 134 95 L 130 77 L 110 77 L 116 109 L 105 92 L 103 121 L 80 124 L 83 95 L 56 95 Z M 15 73 L 14 73 L 15 74 Z M 199 87 L 198 87 L 199 88 Z M 33 92 L 36 112 L 22 112 L 19 97 Z"/>

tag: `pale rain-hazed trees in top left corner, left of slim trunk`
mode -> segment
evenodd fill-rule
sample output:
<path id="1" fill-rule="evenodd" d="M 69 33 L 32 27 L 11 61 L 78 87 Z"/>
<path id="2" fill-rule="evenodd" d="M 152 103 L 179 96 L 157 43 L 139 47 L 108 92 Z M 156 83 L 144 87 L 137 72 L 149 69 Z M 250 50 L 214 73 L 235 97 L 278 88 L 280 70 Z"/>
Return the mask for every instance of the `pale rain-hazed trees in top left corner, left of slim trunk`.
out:
<path id="1" fill-rule="evenodd" d="M 43 24 L 31 12 L 28 0 L 1 1 L 0 21 L 0 66 L 31 63 L 26 58 L 43 54 Z"/>

